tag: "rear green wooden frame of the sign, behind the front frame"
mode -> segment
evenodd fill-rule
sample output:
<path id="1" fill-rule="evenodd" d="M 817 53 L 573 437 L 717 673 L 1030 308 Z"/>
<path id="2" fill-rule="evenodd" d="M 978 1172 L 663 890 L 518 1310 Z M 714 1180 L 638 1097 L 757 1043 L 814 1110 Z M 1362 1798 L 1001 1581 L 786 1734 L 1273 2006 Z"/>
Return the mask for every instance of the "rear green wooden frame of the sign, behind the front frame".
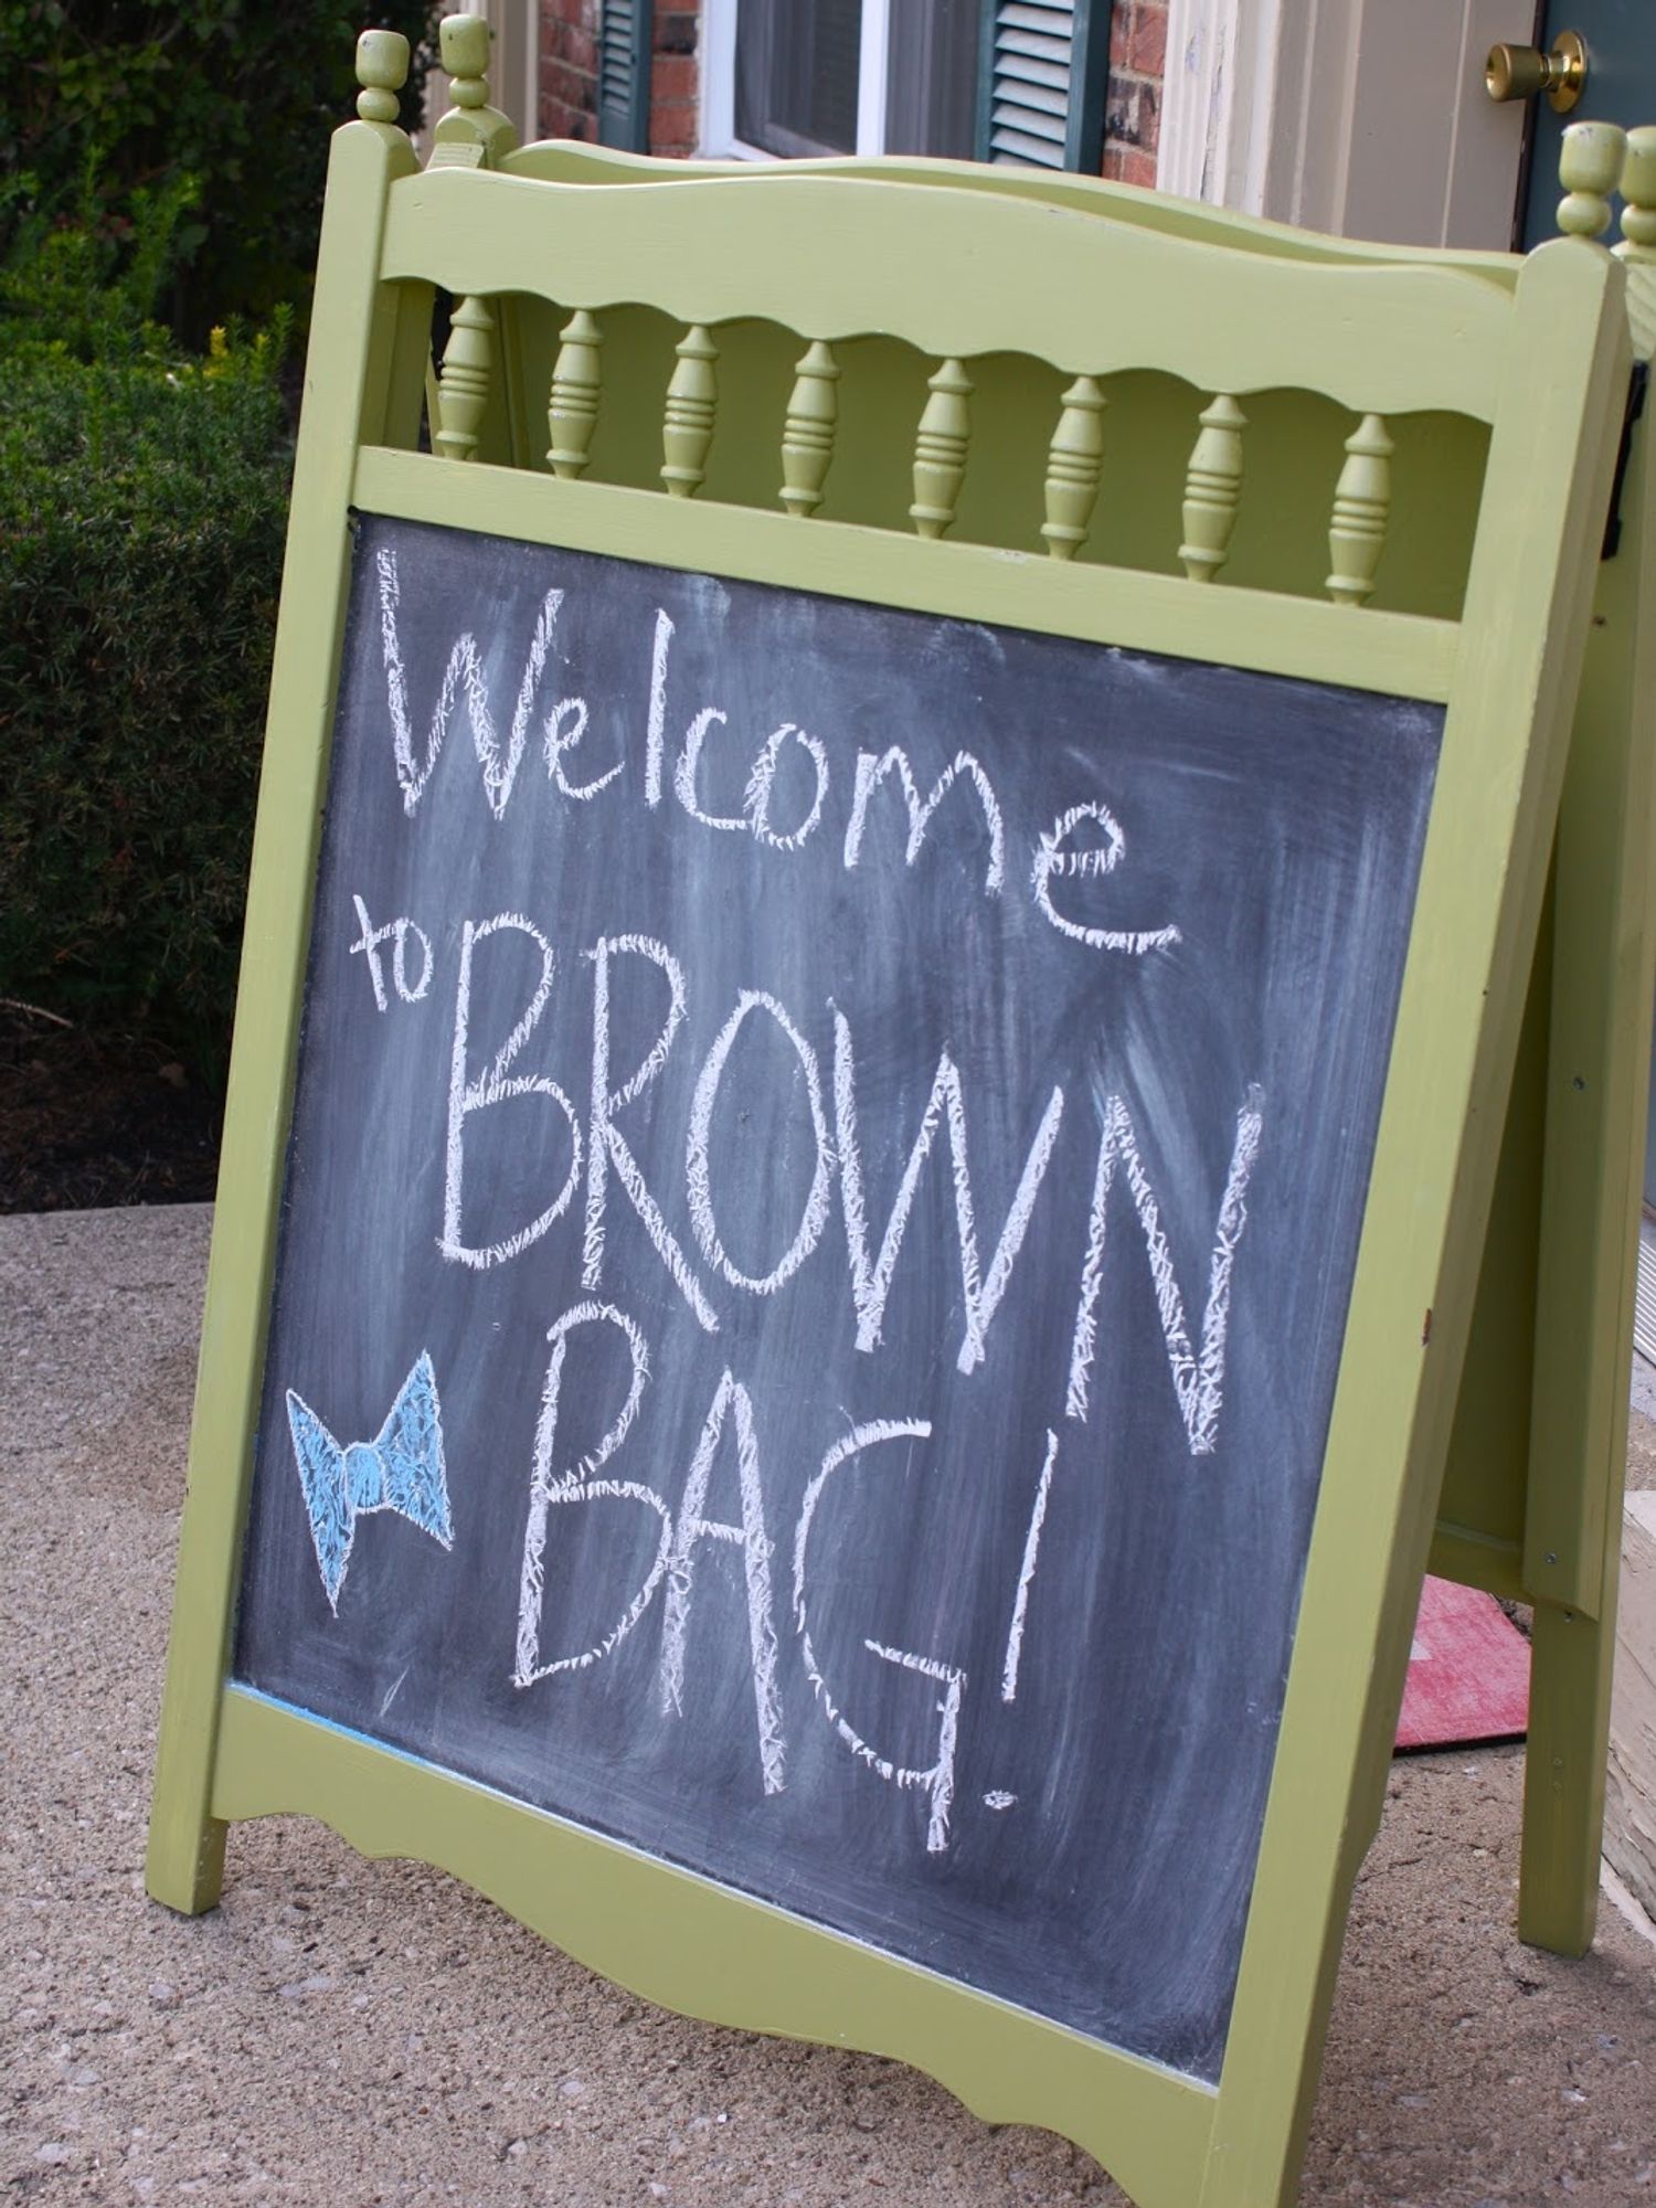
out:
<path id="1" fill-rule="evenodd" d="M 1577 137 L 1603 126 L 1577 126 Z M 1621 132 L 1614 132 L 1621 139 Z M 523 146 L 508 174 L 662 183 L 751 174 Z M 1614 166 L 1614 155 L 1612 155 Z M 1002 192 L 1164 236 L 1342 265 L 1431 258 L 1508 291 L 1510 254 L 1325 238 L 1130 185 L 947 161 L 819 161 L 793 174 Z M 1572 185 L 1574 188 L 1572 179 Z M 1634 355 L 1656 351 L 1656 252 L 1627 243 Z M 1634 433 L 1621 550 L 1599 567 L 1554 888 L 1530 976 L 1431 1570 L 1535 1605 L 1519 1934 L 1585 1954 L 1599 1903 L 1618 1519 L 1627 1448 L 1641 1128 L 1656 989 L 1656 503 Z M 1446 455 L 1471 477 L 1482 455 Z M 1453 490 L 1453 481 L 1444 484 Z M 1389 554 L 1395 567 L 1395 552 Z"/>

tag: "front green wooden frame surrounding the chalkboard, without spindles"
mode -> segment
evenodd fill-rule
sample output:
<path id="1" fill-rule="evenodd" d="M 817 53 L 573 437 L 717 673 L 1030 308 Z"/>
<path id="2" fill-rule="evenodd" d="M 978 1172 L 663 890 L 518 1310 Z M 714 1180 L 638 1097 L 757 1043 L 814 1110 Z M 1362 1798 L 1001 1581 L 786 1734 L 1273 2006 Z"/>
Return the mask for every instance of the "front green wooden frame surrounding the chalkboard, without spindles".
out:
<path id="1" fill-rule="evenodd" d="M 813 241 L 808 265 L 799 236 Z M 1197 389 L 1287 382 L 1354 411 L 1459 406 L 1493 433 L 1464 616 L 1360 612 L 433 459 L 415 450 L 433 283 L 468 294 L 545 289 L 596 309 L 651 298 L 702 320 L 762 309 L 824 338 L 892 329 L 932 353 L 1016 342 L 1047 349 L 1073 373 L 1115 358 L 1126 327 L 1126 353 Z M 225 1824 L 302 1811 L 367 1853 L 442 1864 L 671 2007 L 901 2056 L 987 2117 L 1049 2124 L 1095 2153 L 1144 2208 L 1263 2208 L 1292 2197 L 1455 1411 L 1625 367 L 1621 269 L 1583 243 L 1548 247 L 1515 285 L 1495 285 L 1448 267 L 1294 265 L 1011 194 L 826 177 L 625 192 L 486 170 L 422 177 L 386 126 L 336 135 L 161 1722 L 152 1894 L 210 1908 Z M 227 1682 L 351 506 L 1446 702 L 1217 2091 Z"/>

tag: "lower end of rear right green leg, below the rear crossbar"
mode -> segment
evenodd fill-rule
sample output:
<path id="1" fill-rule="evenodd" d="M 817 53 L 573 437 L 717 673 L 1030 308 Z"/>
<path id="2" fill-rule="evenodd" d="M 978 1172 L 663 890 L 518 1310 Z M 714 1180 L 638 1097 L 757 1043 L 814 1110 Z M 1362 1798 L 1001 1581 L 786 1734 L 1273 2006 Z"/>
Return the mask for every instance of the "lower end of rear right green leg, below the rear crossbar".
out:
<path id="1" fill-rule="evenodd" d="M 1537 1605 L 1519 1939 L 1552 1954 L 1585 1954 L 1599 1914 L 1614 1649 L 1614 1630 L 1585 1612 Z"/>

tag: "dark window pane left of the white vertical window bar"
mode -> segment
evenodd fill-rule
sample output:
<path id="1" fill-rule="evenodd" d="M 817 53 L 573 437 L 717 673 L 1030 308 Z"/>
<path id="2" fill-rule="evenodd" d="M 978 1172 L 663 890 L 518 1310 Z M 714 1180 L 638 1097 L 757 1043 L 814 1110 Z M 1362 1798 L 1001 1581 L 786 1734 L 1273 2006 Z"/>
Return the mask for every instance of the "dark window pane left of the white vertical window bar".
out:
<path id="1" fill-rule="evenodd" d="M 861 35 L 861 0 L 740 0 L 735 135 L 764 152 L 857 152 Z"/>

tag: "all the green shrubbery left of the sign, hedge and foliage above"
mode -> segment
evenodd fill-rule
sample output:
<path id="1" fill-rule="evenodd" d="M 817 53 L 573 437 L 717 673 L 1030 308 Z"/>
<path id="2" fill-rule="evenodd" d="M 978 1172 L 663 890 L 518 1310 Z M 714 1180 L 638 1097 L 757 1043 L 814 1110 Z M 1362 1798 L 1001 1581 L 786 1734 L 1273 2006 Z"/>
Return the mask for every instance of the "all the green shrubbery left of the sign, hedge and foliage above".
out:
<path id="1" fill-rule="evenodd" d="M 0 4 L 0 996 L 144 1029 L 210 1084 L 280 590 L 289 302 L 358 31 L 420 49 L 435 13 Z M 404 121 L 422 88 L 417 62 Z"/>

